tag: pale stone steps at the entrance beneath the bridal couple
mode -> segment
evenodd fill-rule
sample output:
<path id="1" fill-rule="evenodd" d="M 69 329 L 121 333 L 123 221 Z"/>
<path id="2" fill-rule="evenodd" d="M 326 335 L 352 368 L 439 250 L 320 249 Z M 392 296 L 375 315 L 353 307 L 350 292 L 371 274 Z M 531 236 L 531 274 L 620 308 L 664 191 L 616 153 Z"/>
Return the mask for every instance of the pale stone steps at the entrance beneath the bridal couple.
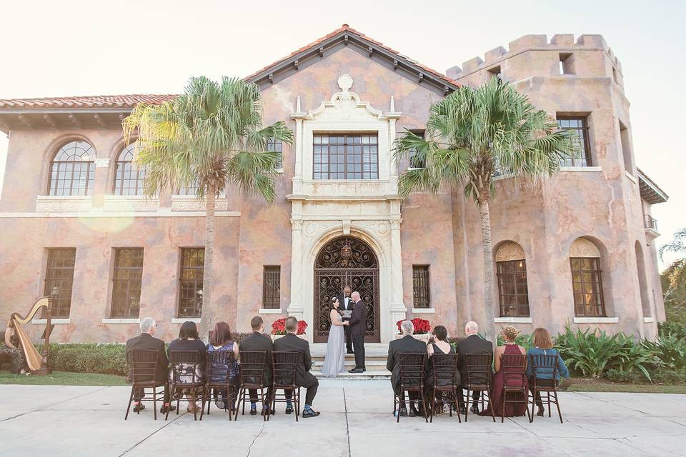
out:
<path id="1" fill-rule="evenodd" d="M 312 353 L 312 374 L 320 379 L 344 379 L 344 380 L 363 380 L 363 379 L 389 379 L 390 371 L 386 369 L 388 356 L 388 345 L 382 343 L 367 343 L 364 345 L 365 366 L 367 371 L 364 373 L 348 373 L 348 370 L 355 368 L 355 356 L 345 355 L 344 371 L 337 378 L 324 378 L 322 367 L 324 366 L 324 355 L 327 353 L 325 343 L 313 343 L 310 345 Z"/>

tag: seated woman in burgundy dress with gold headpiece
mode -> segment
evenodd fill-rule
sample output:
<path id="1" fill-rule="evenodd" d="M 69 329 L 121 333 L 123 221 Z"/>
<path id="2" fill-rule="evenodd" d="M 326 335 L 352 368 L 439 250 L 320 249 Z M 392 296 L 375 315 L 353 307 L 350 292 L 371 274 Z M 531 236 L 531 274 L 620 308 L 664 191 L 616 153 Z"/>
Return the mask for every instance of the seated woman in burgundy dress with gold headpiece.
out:
<path id="1" fill-rule="evenodd" d="M 522 400 L 522 403 L 507 403 L 504 414 L 502 411 L 502 389 L 505 383 L 504 373 L 500 370 L 502 356 L 507 356 L 509 354 L 524 356 L 527 353 L 525 348 L 522 348 L 522 346 L 519 346 L 517 343 L 515 343 L 515 340 L 517 339 L 517 333 L 517 328 L 513 326 L 506 326 L 502 329 L 502 339 L 504 340 L 504 344 L 495 348 L 495 374 L 491 383 L 492 390 L 488 401 L 488 408 L 481 412 L 482 416 L 490 416 L 491 409 L 493 410 L 495 416 L 514 417 L 524 416 L 525 413 L 527 413 L 527 403 L 523 403 L 525 398 L 518 393 L 510 393 L 510 395 L 517 395 L 517 398 L 514 399 Z M 522 375 L 524 375 L 524 373 L 522 373 Z M 516 386 L 522 386 L 526 382 L 527 381 L 524 376 L 522 376 L 522 384 L 520 384 L 514 378 L 508 379 L 507 381 L 508 386 L 514 385 L 514 383 L 517 383 Z"/>

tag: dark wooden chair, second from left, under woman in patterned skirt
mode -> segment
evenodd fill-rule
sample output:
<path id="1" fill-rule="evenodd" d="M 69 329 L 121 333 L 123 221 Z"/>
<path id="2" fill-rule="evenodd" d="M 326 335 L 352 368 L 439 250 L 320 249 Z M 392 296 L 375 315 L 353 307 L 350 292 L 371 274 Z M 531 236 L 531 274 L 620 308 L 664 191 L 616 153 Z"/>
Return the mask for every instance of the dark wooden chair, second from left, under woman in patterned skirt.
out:
<path id="1" fill-rule="evenodd" d="M 177 414 L 179 414 L 179 403 L 186 401 L 193 403 L 193 418 L 198 420 L 198 408 L 195 401 L 202 398 L 202 408 L 204 403 L 204 386 L 202 376 L 198 373 L 202 371 L 202 361 L 198 351 L 169 351 L 169 363 L 172 365 L 172 383 L 169 387 L 171 395 L 177 397 Z M 184 398 L 184 393 L 191 396 L 191 399 Z M 200 393 L 200 395 L 198 395 Z M 166 410 L 164 420 L 169 417 L 169 408 Z"/>

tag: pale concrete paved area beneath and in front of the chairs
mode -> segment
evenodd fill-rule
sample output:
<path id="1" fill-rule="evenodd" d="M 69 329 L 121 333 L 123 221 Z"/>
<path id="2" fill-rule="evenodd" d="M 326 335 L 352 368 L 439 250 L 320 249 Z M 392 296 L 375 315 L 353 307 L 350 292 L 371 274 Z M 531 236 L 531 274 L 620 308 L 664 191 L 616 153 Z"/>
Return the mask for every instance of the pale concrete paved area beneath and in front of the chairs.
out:
<path id="1" fill-rule="evenodd" d="M 0 386 L 2 456 L 686 456 L 686 396 L 562 393 L 557 418 L 447 415 L 424 423 L 390 411 L 388 381 L 322 381 L 318 418 L 229 422 L 217 410 L 153 421 L 129 416 L 126 387 Z M 280 408 L 283 408 L 280 405 Z"/>

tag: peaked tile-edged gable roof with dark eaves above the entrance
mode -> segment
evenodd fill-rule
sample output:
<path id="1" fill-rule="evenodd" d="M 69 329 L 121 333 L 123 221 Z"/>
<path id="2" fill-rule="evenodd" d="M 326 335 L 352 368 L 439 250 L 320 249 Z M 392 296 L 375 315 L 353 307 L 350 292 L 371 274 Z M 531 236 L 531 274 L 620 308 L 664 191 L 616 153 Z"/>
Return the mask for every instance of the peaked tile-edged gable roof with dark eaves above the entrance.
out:
<path id="1" fill-rule="evenodd" d="M 307 46 L 297 49 L 297 51 L 293 51 L 291 54 L 265 66 L 245 79 L 259 84 L 260 87 L 264 86 L 264 84 L 273 84 L 274 80 L 278 79 L 279 76 L 289 76 L 289 74 L 298 71 L 303 66 L 312 64 L 343 46 L 350 46 L 361 54 L 366 54 L 370 59 L 374 59 L 392 68 L 394 71 L 399 71 L 404 76 L 414 79 L 419 84 L 428 83 L 434 89 L 442 91 L 443 94 L 454 91 L 459 86 L 454 79 L 409 59 L 409 57 L 400 54 L 380 41 L 376 41 L 352 29 L 348 24 L 343 24 L 339 29 L 332 31 L 326 36 L 322 36 L 322 38 L 307 44 Z"/>

